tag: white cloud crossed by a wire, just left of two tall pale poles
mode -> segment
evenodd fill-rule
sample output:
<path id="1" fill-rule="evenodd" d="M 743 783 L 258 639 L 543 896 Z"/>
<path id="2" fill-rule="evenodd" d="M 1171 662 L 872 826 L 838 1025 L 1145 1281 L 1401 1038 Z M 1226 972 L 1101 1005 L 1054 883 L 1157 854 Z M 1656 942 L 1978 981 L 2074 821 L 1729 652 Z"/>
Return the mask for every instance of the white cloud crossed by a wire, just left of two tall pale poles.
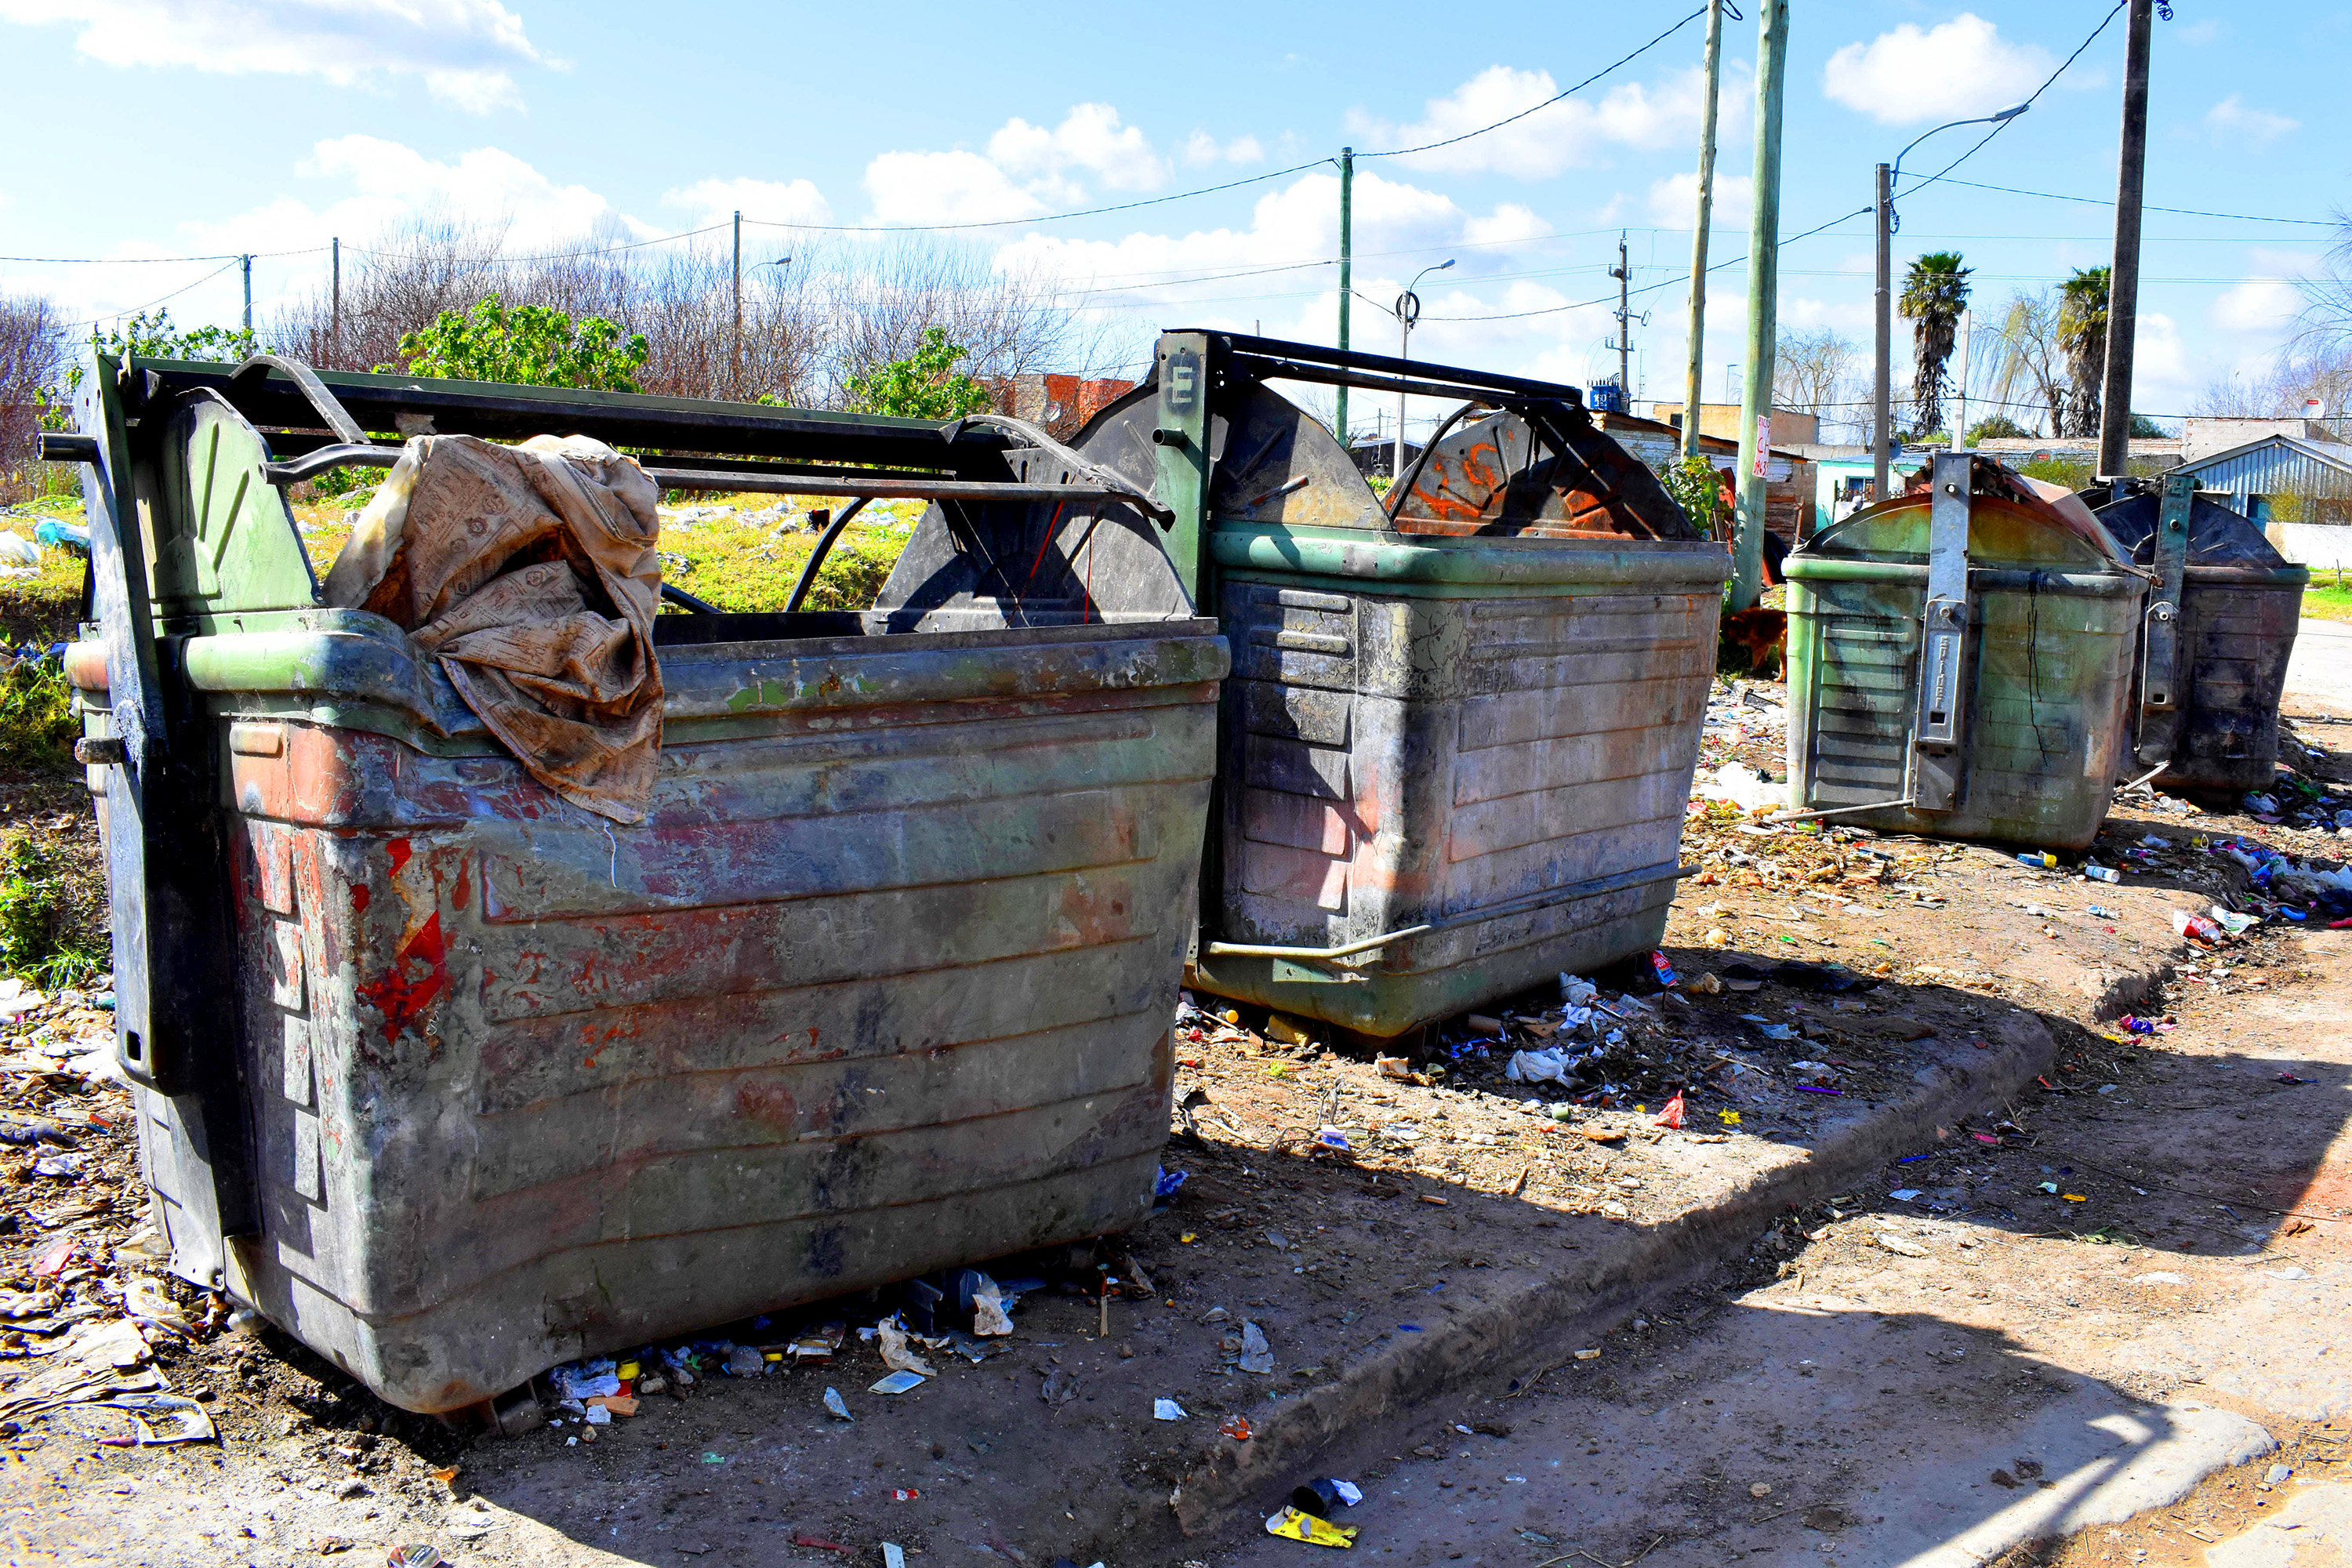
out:
<path id="1" fill-rule="evenodd" d="M 1489 66 L 1444 99 L 1430 99 L 1414 125 L 1390 127 L 1364 118 L 1355 118 L 1355 125 L 1367 136 L 1402 146 L 1425 146 L 1529 110 L 1557 96 L 1557 92 L 1559 85 L 1550 71 Z M 1726 85 L 1726 108 L 1729 99 L 1736 99 L 1738 92 L 1738 82 Z M 1548 179 L 1562 169 L 1599 165 L 1602 153 L 1611 143 L 1623 148 L 1665 148 L 1691 141 L 1698 136 L 1703 103 L 1705 73 L 1693 68 L 1658 85 L 1625 82 L 1611 87 L 1599 101 L 1562 99 L 1559 103 L 1534 108 L 1524 120 L 1512 120 L 1503 129 L 1446 148 L 1414 153 L 1402 162 L 1414 169 L 1449 174 L 1489 172 L 1515 179 Z"/>

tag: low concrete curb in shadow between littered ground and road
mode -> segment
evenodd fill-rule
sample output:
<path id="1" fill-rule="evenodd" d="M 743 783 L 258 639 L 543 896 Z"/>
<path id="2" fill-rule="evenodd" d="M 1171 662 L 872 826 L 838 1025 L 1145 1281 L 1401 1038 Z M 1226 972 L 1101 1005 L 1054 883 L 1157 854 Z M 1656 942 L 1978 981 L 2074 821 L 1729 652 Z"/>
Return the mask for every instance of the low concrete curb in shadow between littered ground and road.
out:
<path id="1" fill-rule="evenodd" d="M 1936 1126 L 1999 1103 L 2051 1070 L 2056 1044 L 2034 1013 L 1992 1025 L 1971 1060 L 1924 1067 L 1915 1091 L 1832 1133 L 1790 1161 L 1686 1211 L 1628 1234 L 1625 1244 L 1555 1274 L 1501 1272 L 1439 1333 L 1378 1345 L 1296 1401 L 1268 1410 L 1249 1443 L 1209 1450 L 1169 1502 L 1185 1535 L 1216 1528 L 1263 1493 L 1289 1493 L 1334 1441 L 1463 1382 L 1526 1375 L 1562 1361 L 1588 1328 L 1611 1324 L 1644 1298 L 1722 1265 L 1771 1220 L 1849 1187 L 1898 1152 L 1933 1140 Z M 1129 1549 L 1134 1540 L 1124 1542 Z"/>

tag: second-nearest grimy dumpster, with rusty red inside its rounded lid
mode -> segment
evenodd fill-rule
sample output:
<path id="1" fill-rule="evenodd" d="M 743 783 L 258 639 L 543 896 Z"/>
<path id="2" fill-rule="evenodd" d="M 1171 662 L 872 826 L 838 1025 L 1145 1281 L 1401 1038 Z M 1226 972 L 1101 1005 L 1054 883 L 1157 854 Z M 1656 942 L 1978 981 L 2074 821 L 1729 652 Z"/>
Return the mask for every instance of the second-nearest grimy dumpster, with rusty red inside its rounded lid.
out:
<path id="1" fill-rule="evenodd" d="M 1272 381 L 1463 407 L 1383 503 Z M 1075 447 L 1235 651 L 1197 987 L 1395 1039 L 1658 943 L 1729 557 L 1571 388 L 1183 331 Z"/>

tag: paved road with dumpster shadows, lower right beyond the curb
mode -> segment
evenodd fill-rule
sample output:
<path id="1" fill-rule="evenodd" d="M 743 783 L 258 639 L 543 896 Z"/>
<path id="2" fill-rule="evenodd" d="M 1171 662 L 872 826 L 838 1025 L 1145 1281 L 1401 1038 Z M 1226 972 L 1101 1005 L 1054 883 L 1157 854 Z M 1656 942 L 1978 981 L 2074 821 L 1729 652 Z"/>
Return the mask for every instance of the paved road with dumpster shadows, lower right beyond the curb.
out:
<path id="1" fill-rule="evenodd" d="M 1945 1143 L 1976 1152 L 1889 1166 L 1842 1220 L 1792 1237 L 1780 1279 L 1679 1293 L 1534 1389 L 1482 1387 L 1369 1429 L 1331 1465 L 1364 1488 L 1338 1514 L 1364 1530 L 1355 1559 L 1973 1568 L 2042 1535 L 2161 1526 L 2140 1512 L 2218 1467 L 2272 1462 L 2298 1422 L 2343 1420 L 2352 1046 L 2324 1020 L 2352 1011 L 2352 933 L 2303 938 L 2281 971 L 2173 999 L 2180 1032 L 2138 1081 L 2020 1107 L 2030 1150 Z M 2114 1175 L 2133 1166 L 2164 1185 Z M 2037 1199 L 2042 1180 L 2082 1208 L 2044 1213 L 2060 1199 Z M 1886 1197 L 1898 1185 L 1973 1192 L 1976 1208 L 1938 1218 L 1905 1201 L 1919 1192 Z M 2288 1229 L 2277 1208 L 2324 1218 Z M 2343 1469 L 2298 1467 L 2274 1500 Z M 2244 1542 L 2230 1568 L 2284 1568 L 2296 1540 L 2352 1533 L 2340 1488 L 2324 1514 L 2310 1535 Z M 1247 1521 L 1202 1544 L 1211 1568 L 1303 1561 Z"/>

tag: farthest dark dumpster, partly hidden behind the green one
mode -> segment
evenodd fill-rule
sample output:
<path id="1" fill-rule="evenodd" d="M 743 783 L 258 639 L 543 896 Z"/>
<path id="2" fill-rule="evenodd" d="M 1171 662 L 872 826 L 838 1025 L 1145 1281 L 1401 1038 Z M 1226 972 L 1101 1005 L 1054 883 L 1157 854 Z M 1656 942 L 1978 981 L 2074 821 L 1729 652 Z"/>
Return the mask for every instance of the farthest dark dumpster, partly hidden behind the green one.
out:
<path id="1" fill-rule="evenodd" d="M 2194 494 L 2190 475 L 2124 480 L 2084 498 L 2131 559 L 2157 574 L 2140 637 L 2138 764 L 2164 769 L 2159 790 L 2267 790 L 2310 569 L 2279 555 L 2244 512 Z"/>

